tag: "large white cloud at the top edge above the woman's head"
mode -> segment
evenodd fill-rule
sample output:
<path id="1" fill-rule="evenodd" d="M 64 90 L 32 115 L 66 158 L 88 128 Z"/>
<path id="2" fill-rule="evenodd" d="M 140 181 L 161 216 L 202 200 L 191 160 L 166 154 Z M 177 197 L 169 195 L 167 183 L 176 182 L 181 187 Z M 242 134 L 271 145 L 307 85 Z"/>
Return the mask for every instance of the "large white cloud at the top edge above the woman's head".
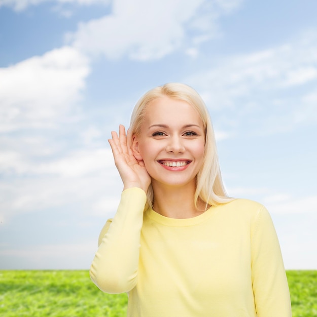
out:
<path id="1" fill-rule="evenodd" d="M 240 3 L 115 0 L 111 15 L 81 23 L 78 31 L 67 34 L 66 39 L 84 52 L 104 54 L 109 59 L 122 56 L 134 60 L 159 59 L 181 47 L 196 55 L 197 42 L 215 36 L 219 16 Z"/>

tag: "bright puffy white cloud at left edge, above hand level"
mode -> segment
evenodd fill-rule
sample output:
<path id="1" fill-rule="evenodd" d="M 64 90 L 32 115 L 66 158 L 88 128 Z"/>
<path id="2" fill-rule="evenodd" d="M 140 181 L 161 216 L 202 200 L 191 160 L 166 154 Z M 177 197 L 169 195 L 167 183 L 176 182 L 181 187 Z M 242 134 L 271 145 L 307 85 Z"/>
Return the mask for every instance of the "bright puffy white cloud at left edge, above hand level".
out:
<path id="1" fill-rule="evenodd" d="M 71 47 L 0 68 L 0 131 L 54 125 L 81 98 L 88 59 Z"/>

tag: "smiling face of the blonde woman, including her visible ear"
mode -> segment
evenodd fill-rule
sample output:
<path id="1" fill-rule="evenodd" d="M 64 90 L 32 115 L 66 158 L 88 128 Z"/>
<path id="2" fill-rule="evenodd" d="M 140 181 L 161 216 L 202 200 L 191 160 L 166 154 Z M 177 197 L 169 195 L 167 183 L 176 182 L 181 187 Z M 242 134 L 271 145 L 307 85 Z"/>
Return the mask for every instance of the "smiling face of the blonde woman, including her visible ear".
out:
<path id="1" fill-rule="evenodd" d="M 203 164 L 205 132 L 198 112 L 186 101 L 168 97 L 147 105 L 133 153 L 143 160 L 152 185 L 196 186 Z"/>

